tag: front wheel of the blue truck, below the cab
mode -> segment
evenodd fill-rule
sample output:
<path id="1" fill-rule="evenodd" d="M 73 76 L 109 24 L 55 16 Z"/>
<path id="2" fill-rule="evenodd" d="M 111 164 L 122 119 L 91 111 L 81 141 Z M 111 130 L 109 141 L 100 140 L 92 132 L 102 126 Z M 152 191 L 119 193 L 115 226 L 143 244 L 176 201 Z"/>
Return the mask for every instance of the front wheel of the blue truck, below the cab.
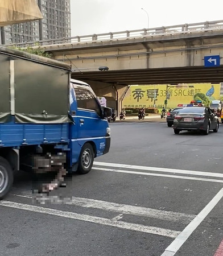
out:
<path id="1" fill-rule="evenodd" d="M 86 143 L 81 149 L 77 172 L 79 174 L 88 174 L 88 172 L 91 170 L 93 166 L 93 162 L 94 162 L 93 147 L 90 143 Z"/>

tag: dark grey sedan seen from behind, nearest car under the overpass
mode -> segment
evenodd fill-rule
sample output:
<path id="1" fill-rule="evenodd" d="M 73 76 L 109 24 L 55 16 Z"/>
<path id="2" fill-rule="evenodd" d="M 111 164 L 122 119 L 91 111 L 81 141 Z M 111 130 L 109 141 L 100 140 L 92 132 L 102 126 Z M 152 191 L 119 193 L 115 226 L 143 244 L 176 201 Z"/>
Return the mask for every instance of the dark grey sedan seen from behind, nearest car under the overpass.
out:
<path id="1" fill-rule="evenodd" d="M 180 109 L 174 118 L 174 133 L 179 134 L 180 131 L 201 131 L 207 135 L 209 130 L 217 133 L 219 120 L 213 110 L 207 107 L 187 107 Z"/>

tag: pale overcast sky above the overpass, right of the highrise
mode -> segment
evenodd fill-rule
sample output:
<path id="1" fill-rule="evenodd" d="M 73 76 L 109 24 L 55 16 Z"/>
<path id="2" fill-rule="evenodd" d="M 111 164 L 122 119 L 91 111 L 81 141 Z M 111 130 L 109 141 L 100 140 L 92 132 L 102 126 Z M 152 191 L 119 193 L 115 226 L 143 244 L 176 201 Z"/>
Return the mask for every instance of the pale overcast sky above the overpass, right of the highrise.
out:
<path id="1" fill-rule="evenodd" d="M 71 0 L 71 36 L 223 20 L 222 7 L 222 0 Z"/>

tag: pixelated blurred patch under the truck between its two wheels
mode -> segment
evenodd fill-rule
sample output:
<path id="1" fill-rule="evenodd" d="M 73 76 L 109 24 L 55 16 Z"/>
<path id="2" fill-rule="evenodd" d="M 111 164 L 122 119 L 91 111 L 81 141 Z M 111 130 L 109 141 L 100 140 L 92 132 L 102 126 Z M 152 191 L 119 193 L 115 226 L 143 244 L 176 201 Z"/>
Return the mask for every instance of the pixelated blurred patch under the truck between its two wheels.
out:
<path id="1" fill-rule="evenodd" d="M 34 156 L 32 192 L 48 194 L 59 187 L 65 187 L 64 177 L 67 175 L 65 163 L 64 152 Z"/>

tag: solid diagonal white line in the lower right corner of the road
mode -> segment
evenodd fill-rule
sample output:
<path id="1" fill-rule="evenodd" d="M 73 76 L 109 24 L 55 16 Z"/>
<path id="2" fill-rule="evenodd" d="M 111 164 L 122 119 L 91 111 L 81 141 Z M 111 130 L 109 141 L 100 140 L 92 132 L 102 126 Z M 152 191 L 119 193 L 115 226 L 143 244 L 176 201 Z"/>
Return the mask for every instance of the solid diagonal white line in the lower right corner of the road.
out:
<path id="1" fill-rule="evenodd" d="M 201 212 L 189 223 L 186 228 L 177 236 L 177 238 L 167 247 L 161 256 L 173 256 L 180 249 L 180 247 L 187 241 L 193 231 L 201 224 L 205 217 L 208 216 L 210 211 L 223 197 L 223 188 L 217 193 L 216 196 L 201 210 Z"/>

